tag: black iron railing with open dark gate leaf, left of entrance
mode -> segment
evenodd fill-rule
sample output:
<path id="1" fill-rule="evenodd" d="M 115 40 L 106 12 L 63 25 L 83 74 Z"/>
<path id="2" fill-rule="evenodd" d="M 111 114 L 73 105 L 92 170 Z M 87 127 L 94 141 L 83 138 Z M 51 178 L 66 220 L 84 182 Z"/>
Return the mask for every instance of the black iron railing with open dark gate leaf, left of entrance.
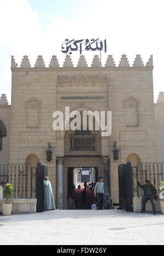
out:
<path id="1" fill-rule="evenodd" d="M 0 185 L 14 185 L 12 199 L 37 199 L 37 212 L 44 211 L 43 179 L 48 176 L 48 167 L 38 162 L 31 164 L 0 164 Z"/>

